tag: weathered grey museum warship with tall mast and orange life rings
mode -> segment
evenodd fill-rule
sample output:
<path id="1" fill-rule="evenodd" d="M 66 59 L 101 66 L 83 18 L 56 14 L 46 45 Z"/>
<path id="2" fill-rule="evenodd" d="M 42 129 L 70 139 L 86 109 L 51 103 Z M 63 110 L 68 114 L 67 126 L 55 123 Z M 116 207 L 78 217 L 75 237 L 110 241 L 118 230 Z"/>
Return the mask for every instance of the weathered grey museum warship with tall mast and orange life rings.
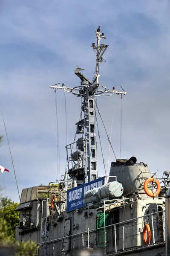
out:
<path id="1" fill-rule="evenodd" d="M 116 159 L 109 176 L 105 173 L 98 177 L 96 99 L 113 94 L 122 97 L 126 92 L 99 84 L 99 65 L 105 62 L 108 45 L 101 43 L 106 38 L 100 26 L 95 35 L 92 81 L 76 66 L 79 86 L 50 86 L 55 92 L 64 90 L 81 97 L 81 118 L 76 123 L 74 141 L 66 145 L 67 165 L 61 180 L 23 189 L 15 209 L 20 211 L 15 239 L 35 241 L 38 256 L 81 255 L 83 251 L 86 255 L 163 256 L 170 172 L 159 178 L 146 163 L 137 163 L 136 157 L 131 157 Z M 109 136 L 108 140 L 112 147 Z"/>

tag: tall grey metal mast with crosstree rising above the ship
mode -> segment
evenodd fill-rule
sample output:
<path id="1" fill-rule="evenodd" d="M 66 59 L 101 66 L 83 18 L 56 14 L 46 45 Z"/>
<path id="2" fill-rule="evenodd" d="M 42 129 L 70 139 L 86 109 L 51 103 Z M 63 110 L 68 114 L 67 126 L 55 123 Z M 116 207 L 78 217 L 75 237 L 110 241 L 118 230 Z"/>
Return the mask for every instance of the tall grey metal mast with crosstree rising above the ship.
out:
<path id="1" fill-rule="evenodd" d="M 78 185 L 85 183 L 86 176 L 88 176 L 88 182 L 97 179 L 97 147 L 96 147 L 96 134 L 95 134 L 95 96 L 112 96 L 113 94 L 127 94 L 124 90 L 117 91 L 115 87 L 112 90 L 108 90 L 99 84 L 99 64 L 105 62 L 103 59 L 104 52 L 106 51 L 108 45 L 101 44 L 101 39 L 106 39 L 104 33 L 100 32 L 99 29 L 95 30 L 96 33 L 96 44 L 92 43 L 92 48 L 96 52 L 96 68 L 93 80 L 90 81 L 86 76 L 81 73 L 81 68 L 76 66 L 74 73 L 81 79 L 81 85 L 76 87 L 66 87 L 64 84 L 60 86 L 60 83 L 50 86 L 52 89 L 63 89 L 67 93 L 72 93 L 76 96 L 82 97 L 82 110 L 84 111 L 85 118 L 80 120 L 77 125 L 76 134 L 84 134 L 86 141 L 86 146 L 84 155 L 78 156 L 77 147 L 77 159 L 74 155 L 74 159 L 79 161 L 81 159 L 83 168 L 80 168 L 79 164 L 72 166 L 69 170 L 69 175 L 72 180 L 76 182 L 78 175 L 81 176 L 81 182 Z M 71 144 L 70 144 L 71 145 Z M 71 147 L 70 147 L 71 149 Z M 72 152 L 71 152 L 72 154 Z M 73 159 L 73 161 L 74 161 Z M 70 162 L 70 157 L 67 157 L 68 163 Z M 75 162 L 74 162 L 75 163 Z M 86 169 L 86 171 L 85 171 Z M 81 170 L 81 171 L 80 171 Z M 84 176 L 85 175 L 85 176 Z M 68 175 L 66 174 L 65 177 Z M 66 180 L 64 180 L 66 181 Z"/>

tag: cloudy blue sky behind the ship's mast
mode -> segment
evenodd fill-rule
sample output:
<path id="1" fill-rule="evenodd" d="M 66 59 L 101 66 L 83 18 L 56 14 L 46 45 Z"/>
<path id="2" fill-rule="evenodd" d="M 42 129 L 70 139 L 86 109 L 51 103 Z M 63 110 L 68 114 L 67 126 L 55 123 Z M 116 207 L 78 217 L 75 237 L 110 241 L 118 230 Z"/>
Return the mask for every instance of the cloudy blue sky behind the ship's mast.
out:
<path id="1" fill-rule="evenodd" d="M 76 65 L 92 79 L 94 29 L 104 32 L 109 47 L 100 66 L 100 83 L 111 89 L 122 86 L 123 126 L 121 157 L 136 156 L 158 176 L 169 168 L 170 154 L 170 3 L 167 0 L 57 1 L 0 0 L 0 109 L 3 111 L 20 193 L 23 188 L 48 184 L 57 178 L 57 82 L 74 87 L 80 80 Z M 61 173 L 65 166 L 64 93 L 57 91 Z M 98 98 L 98 107 L 119 157 L 120 96 Z M 81 100 L 66 95 L 67 142 L 72 143 Z M 99 118 L 98 118 L 99 120 Z M 101 122 L 99 121 L 101 124 Z M 3 120 L 0 134 L 1 165 L 6 193 L 18 201 L 12 161 Z M 109 144 L 100 127 L 104 160 Z M 98 144 L 99 145 L 99 144 Z M 104 166 L 98 147 L 99 175 Z M 110 153 L 110 161 L 114 161 Z M 109 163 L 110 165 L 110 163 Z M 59 171 L 58 171 L 59 172 Z M 58 173 L 59 178 L 59 173 Z M 3 187 L 3 179 L 0 179 Z M 5 195 L 4 190 L 1 192 Z"/>

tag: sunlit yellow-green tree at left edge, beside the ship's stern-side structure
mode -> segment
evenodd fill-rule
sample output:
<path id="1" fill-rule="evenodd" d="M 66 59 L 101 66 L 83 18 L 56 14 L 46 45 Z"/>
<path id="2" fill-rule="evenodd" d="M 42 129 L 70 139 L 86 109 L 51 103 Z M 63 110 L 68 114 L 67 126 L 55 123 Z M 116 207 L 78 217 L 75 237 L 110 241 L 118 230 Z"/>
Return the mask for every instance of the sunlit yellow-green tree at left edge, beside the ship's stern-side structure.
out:
<path id="1" fill-rule="evenodd" d="M 15 227 L 20 222 L 20 212 L 14 211 L 18 203 L 14 203 L 10 198 L 5 197 L 0 201 L 0 218 L 6 221 L 6 232 L 8 236 L 15 237 Z"/>

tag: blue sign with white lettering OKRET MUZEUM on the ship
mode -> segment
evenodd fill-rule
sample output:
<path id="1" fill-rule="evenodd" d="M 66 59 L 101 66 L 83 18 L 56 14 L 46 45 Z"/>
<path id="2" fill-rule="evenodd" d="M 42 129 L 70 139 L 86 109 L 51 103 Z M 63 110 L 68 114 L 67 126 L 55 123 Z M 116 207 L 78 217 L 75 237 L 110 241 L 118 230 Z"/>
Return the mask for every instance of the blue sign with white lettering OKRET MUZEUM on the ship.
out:
<path id="1" fill-rule="evenodd" d="M 84 204 L 84 194 L 91 189 L 99 188 L 104 185 L 104 178 L 101 177 L 97 180 L 93 180 L 91 182 L 85 183 L 81 186 L 77 186 L 75 188 L 69 189 L 67 191 L 67 212 L 71 212 L 75 209 L 79 209 L 85 207 Z"/>

